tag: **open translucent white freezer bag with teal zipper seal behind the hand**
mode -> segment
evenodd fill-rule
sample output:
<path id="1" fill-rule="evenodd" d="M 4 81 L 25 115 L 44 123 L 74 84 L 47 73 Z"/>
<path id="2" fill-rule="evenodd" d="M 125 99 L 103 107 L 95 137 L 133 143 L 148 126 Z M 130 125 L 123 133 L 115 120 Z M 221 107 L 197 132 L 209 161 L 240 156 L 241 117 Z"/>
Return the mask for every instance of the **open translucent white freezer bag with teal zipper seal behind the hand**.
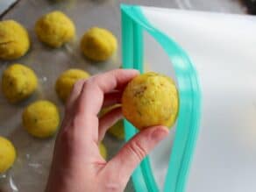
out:
<path id="1" fill-rule="evenodd" d="M 172 76 L 179 114 L 136 191 L 256 191 L 256 18 L 121 6 L 123 67 Z M 126 140 L 137 132 L 125 121 Z"/>

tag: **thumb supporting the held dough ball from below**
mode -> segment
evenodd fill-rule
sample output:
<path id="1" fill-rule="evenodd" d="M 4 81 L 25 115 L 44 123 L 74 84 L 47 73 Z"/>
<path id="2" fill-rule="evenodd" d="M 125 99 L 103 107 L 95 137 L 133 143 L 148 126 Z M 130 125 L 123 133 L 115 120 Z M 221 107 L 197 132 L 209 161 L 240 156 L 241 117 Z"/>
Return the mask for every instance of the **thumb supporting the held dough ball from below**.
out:
<path id="1" fill-rule="evenodd" d="M 110 172 L 116 170 L 118 177 L 128 182 L 139 162 L 153 150 L 160 140 L 167 137 L 168 132 L 165 126 L 153 126 L 139 132 L 108 162 L 106 168 Z"/>

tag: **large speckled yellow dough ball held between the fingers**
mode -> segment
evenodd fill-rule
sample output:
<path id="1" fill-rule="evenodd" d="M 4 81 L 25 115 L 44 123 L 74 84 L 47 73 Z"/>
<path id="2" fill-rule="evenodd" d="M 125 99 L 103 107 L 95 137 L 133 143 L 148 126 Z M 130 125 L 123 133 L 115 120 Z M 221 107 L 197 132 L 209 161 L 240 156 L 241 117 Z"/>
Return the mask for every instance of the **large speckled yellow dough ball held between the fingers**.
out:
<path id="1" fill-rule="evenodd" d="M 160 124 L 172 126 L 178 112 L 173 80 L 153 72 L 138 75 L 124 89 L 122 110 L 139 130 Z"/>

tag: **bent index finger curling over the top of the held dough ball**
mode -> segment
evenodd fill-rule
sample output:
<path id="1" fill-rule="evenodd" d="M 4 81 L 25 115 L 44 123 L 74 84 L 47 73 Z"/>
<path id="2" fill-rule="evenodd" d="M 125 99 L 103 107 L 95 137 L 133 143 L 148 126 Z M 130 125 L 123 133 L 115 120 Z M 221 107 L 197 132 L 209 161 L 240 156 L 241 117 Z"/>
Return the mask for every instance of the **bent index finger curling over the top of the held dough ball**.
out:
<path id="1" fill-rule="evenodd" d="M 124 87 L 137 75 L 139 71 L 134 69 L 116 69 L 93 76 L 84 82 L 77 103 L 76 117 L 84 123 L 86 135 L 93 136 L 93 139 L 97 141 L 97 114 L 102 108 L 104 94 Z"/>

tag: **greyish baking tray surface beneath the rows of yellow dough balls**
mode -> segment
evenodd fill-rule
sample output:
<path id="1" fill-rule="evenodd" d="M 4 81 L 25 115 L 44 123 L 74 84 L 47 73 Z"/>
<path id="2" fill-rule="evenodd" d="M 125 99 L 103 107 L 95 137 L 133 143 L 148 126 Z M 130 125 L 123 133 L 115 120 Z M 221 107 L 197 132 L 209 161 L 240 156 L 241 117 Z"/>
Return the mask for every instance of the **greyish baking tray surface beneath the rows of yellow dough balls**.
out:
<path id="1" fill-rule="evenodd" d="M 206 3 L 207 2 L 207 3 Z M 100 26 L 113 32 L 120 39 L 119 4 L 144 4 L 168 8 L 189 10 L 221 11 L 244 13 L 245 9 L 236 1 L 218 0 L 161 0 L 161 1 L 117 1 L 117 0 L 22 0 L 10 11 L 4 13 L 2 19 L 15 19 L 25 25 L 32 39 L 30 51 L 21 59 L 0 61 L 0 74 L 4 68 L 14 62 L 25 64 L 32 68 L 39 77 L 39 89 L 28 100 L 18 105 L 11 105 L 0 93 L 0 135 L 13 142 L 18 152 L 14 166 L 6 174 L 0 175 L 0 191 L 44 191 L 46 179 L 51 164 L 55 137 L 51 139 L 35 139 L 28 135 L 21 125 L 21 113 L 28 103 L 38 99 L 48 99 L 60 107 L 63 117 L 63 104 L 54 91 L 54 83 L 60 73 L 68 68 L 82 68 L 91 75 L 119 68 L 120 52 L 110 60 L 92 63 L 86 60 L 79 50 L 82 34 L 91 26 Z M 46 12 L 64 11 L 75 22 L 76 38 L 74 42 L 52 49 L 42 45 L 35 36 L 33 26 L 37 18 Z M 120 47 L 120 40 L 118 41 Z M 107 146 L 109 158 L 117 153 L 123 145 L 110 136 L 103 143 Z M 134 191 L 130 182 L 126 191 Z"/>

